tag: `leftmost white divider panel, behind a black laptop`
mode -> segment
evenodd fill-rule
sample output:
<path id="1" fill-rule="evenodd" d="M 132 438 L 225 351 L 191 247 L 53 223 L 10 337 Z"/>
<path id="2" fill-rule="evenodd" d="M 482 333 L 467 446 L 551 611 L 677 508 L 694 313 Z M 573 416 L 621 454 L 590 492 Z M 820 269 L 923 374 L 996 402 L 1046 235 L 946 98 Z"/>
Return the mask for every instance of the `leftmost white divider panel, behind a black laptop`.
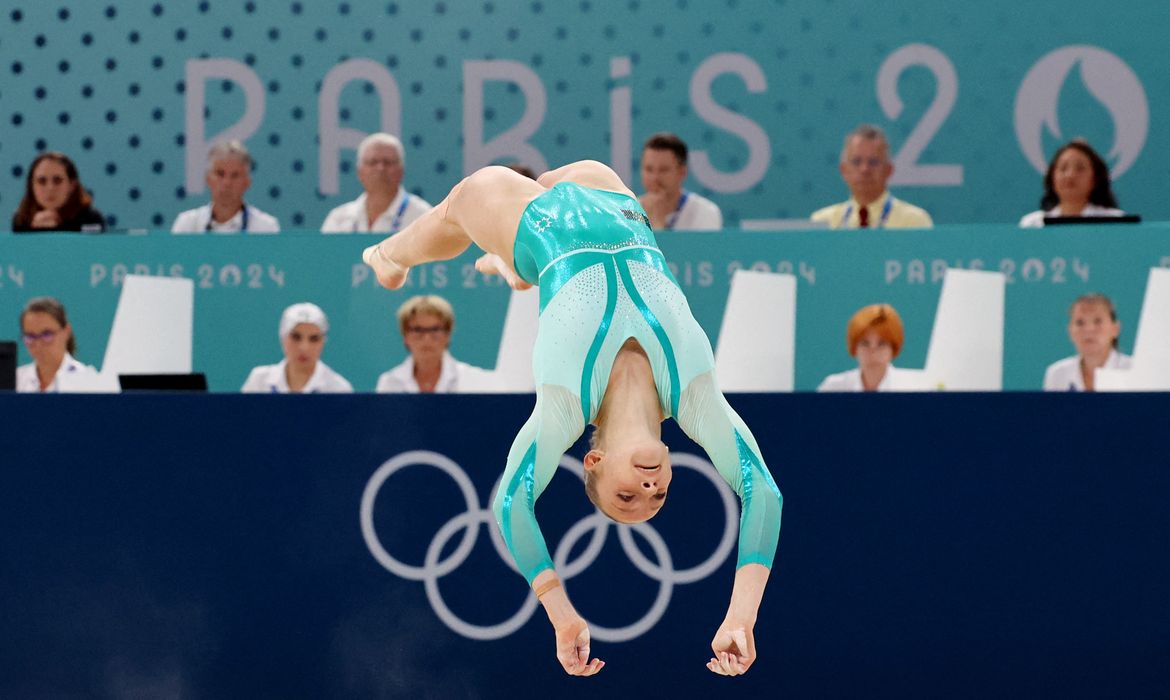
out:
<path id="1" fill-rule="evenodd" d="M 191 280 L 126 275 L 102 373 L 191 372 L 194 295 Z"/>

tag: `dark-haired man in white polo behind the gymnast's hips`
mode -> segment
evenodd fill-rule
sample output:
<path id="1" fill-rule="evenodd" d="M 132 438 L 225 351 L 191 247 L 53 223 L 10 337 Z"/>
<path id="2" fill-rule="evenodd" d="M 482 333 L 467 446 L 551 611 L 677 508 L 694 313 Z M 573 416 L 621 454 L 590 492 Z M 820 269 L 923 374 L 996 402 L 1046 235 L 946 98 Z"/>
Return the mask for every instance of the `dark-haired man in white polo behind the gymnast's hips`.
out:
<path id="1" fill-rule="evenodd" d="M 687 144 L 666 131 L 642 146 L 642 190 L 638 198 L 654 231 L 716 231 L 723 212 L 714 201 L 683 190 L 687 179 Z"/>

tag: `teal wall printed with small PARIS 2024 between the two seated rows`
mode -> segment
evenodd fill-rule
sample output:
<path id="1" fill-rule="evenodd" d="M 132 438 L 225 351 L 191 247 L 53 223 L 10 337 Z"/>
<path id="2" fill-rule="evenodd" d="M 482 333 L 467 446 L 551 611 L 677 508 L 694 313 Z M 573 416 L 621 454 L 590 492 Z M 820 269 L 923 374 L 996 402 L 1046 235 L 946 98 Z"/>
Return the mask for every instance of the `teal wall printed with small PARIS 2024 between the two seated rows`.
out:
<path id="1" fill-rule="evenodd" d="M 183 275 L 195 282 L 195 368 L 212 389 L 234 391 L 248 370 L 277 362 L 277 322 L 295 302 L 314 301 L 332 329 L 324 359 L 359 391 L 406 352 L 394 310 L 408 294 L 440 294 L 454 304 L 454 355 L 494 366 L 509 290 L 475 273 L 474 253 L 415 269 L 406 291 L 378 287 L 360 262 L 364 236 L 15 235 L 0 236 L 0 337 L 19 334 L 32 296 L 53 294 L 69 309 L 80 357 L 101 364 L 126 272 Z M 1009 273 L 1004 334 L 1005 389 L 1037 390 L 1044 369 L 1072 355 L 1067 308 L 1103 291 L 1117 304 L 1122 349 L 1133 349 L 1151 267 L 1170 267 L 1170 225 L 1020 231 L 1013 226 L 944 226 L 930 232 L 793 231 L 661 234 L 695 316 L 717 341 L 731 270 L 792 272 L 797 284 L 796 387 L 812 390 L 853 365 L 845 323 L 859 307 L 889 302 L 907 342 L 896 364 L 921 368 L 947 266 Z M 766 323 L 766 316 L 760 318 Z M 6 330 L 7 329 L 7 330 Z M 21 348 L 21 362 L 28 362 Z"/>

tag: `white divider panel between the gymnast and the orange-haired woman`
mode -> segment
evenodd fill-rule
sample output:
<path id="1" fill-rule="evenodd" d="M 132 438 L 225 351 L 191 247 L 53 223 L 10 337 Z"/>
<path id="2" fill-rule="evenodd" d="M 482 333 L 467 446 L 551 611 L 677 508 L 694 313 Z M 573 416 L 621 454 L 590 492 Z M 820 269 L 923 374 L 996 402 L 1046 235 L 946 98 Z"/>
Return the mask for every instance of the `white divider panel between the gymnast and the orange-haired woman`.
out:
<path id="1" fill-rule="evenodd" d="M 796 337 L 797 279 L 736 270 L 715 352 L 720 389 L 792 391 Z"/>

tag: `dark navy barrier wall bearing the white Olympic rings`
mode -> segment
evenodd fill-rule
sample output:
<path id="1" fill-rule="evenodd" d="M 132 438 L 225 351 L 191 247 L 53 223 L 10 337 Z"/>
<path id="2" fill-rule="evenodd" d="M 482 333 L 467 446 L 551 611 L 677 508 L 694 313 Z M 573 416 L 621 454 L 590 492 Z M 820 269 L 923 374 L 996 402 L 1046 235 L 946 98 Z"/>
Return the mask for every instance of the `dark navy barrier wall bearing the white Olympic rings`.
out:
<path id="1" fill-rule="evenodd" d="M 785 495 L 757 665 L 703 667 L 734 557 L 669 424 L 669 505 L 633 540 L 661 562 L 661 537 L 675 572 L 716 568 L 668 586 L 617 527 L 592 562 L 578 540 L 566 588 L 607 666 L 572 679 L 541 611 L 488 640 L 446 622 L 524 612 L 486 529 L 469 554 L 459 522 L 436 537 L 486 507 L 530 398 L 0 396 L 0 696 L 1166 696 L 1170 397 L 732 403 Z M 371 481 L 411 451 L 429 454 L 376 483 L 370 523 L 407 567 L 434 548 L 436 598 L 362 530 Z M 590 512 L 573 476 L 553 480 L 553 550 Z"/>

